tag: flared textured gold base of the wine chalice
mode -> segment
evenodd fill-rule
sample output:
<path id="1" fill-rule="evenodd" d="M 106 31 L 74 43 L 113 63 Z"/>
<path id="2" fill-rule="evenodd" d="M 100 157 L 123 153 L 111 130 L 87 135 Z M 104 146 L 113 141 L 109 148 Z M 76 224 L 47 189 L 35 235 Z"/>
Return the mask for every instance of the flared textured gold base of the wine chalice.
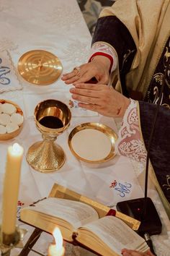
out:
<path id="1" fill-rule="evenodd" d="M 36 171 L 48 173 L 57 171 L 66 161 L 66 155 L 61 146 L 54 141 L 35 142 L 27 151 L 27 162 Z"/>

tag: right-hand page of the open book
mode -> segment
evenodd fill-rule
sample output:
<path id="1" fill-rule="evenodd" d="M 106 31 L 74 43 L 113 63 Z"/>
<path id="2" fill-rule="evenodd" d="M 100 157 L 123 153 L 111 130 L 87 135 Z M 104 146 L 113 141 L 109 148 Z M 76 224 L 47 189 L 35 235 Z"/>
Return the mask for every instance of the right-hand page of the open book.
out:
<path id="1" fill-rule="evenodd" d="M 85 230 L 85 231 L 84 231 Z M 121 254 L 122 248 L 135 249 L 141 244 L 145 243 L 145 240 L 135 233 L 128 225 L 126 225 L 120 219 L 114 216 L 106 216 L 100 218 L 98 221 L 88 223 L 81 227 L 80 232 L 89 230 L 99 236 L 99 238 L 109 246 L 112 251 Z M 86 235 L 89 233 L 86 233 Z M 90 235 L 89 235 L 90 236 Z M 91 237 L 93 234 L 91 234 Z"/>

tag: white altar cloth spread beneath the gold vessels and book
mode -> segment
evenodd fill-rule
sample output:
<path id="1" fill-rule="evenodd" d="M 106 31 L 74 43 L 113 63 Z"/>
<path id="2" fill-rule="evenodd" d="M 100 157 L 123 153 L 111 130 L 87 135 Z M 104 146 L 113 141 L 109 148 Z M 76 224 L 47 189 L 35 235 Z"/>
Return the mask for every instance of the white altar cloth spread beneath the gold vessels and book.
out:
<path id="1" fill-rule="evenodd" d="M 42 49 L 50 51 L 61 60 L 63 72 L 87 61 L 91 45 L 91 35 L 84 18 L 81 15 L 76 0 L 0 0 L 0 52 L 7 51 L 17 68 L 19 57 L 27 51 Z M 19 189 L 19 200 L 25 205 L 47 197 L 56 182 L 83 195 L 99 200 L 106 205 L 116 205 L 117 201 L 143 196 L 143 165 L 130 161 L 128 158 L 116 156 L 112 161 L 102 164 L 89 164 L 78 161 L 68 148 L 68 135 L 71 130 L 84 122 L 97 121 L 112 127 L 117 132 L 117 121 L 112 118 L 99 116 L 90 111 L 74 110 L 71 126 L 58 137 L 58 144 L 66 153 L 66 163 L 54 173 L 42 174 L 33 170 L 27 163 L 25 155 L 32 143 L 41 140 L 40 132 L 35 127 L 33 111 L 40 101 L 54 98 L 68 103 L 71 95 L 69 86 L 59 78 L 53 85 L 32 85 L 19 76 L 22 90 L 11 90 L 0 94 L 0 98 L 14 101 L 24 112 L 24 127 L 22 132 L 13 140 L 1 141 L 0 155 L 0 184 L 2 187 L 6 149 L 14 142 L 19 142 L 24 148 L 22 177 Z M 77 117 L 75 117 L 77 116 Z M 130 182 L 130 192 L 120 196 L 120 193 L 110 188 L 112 181 Z M 2 192 L 2 191 L 1 191 Z M 1 195 L 0 192 L 0 195 Z M 148 195 L 153 199 L 163 221 L 163 232 L 154 236 L 153 242 L 159 256 L 169 255 L 170 225 L 164 208 L 153 184 L 150 181 Z M 2 195 L 1 195 L 2 197 Z M 1 200 L 0 200 L 1 201 Z M 24 242 L 30 236 L 29 229 Z M 51 236 L 43 234 L 35 248 L 45 253 Z M 90 255 L 81 249 L 67 246 L 67 255 Z M 19 250 L 12 250 L 12 255 L 18 255 Z M 30 256 L 35 252 L 30 252 Z"/>

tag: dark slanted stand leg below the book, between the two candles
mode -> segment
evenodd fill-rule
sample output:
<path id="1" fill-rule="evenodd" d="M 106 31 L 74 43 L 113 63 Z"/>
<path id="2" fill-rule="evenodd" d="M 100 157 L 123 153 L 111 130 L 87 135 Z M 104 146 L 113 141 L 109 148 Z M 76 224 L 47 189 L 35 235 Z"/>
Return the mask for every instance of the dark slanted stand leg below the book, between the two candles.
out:
<path id="1" fill-rule="evenodd" d="M 22 249 L 22 251 L 19 253 L 19 256 L 27 256 L 29 254 L 30 250 L 39 239 L 41 233 L 42 233 L 41 229 L 35 229 L 32 232 L 32 235 L 28 239 L 27 243 L 24 245 L 24 248 Z M 8 256 L 8 255 L 5 255 L 5 256 Z"/>

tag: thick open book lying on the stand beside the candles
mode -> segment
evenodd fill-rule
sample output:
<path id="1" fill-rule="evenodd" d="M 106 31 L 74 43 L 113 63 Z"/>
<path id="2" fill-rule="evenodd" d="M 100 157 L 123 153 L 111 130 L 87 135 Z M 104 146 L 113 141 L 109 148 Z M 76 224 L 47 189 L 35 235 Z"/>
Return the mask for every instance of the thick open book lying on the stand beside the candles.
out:
<path id="1" fill-rule="evenodd" d="M 63 239 L 76 241 L 99 255 L 121 255 L 125 247 L 140 252 L 148 249 L 145 240 L 120 218 L 99 218 L 97 210 L 84 202 L 48 197 L 35 206 L 23 208 L 20 218 L 49 233 L 58 226 Z"/>

